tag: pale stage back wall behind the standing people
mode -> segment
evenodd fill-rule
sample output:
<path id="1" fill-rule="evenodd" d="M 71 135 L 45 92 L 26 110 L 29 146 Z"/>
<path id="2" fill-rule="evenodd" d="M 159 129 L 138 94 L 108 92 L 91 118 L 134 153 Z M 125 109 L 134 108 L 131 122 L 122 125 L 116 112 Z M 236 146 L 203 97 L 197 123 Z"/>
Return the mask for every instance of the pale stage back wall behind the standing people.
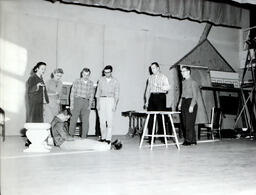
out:
<path id="1" fill-rule="evenodd" d="M 18 135 L 25 122 L 25 81 L 38 61 L 45 61 L 45 80 L 55 67 L 73 82 L 84 66 L 94 82 L 107 64 L 121 85 L 114 134 L 126 134 L 122 111 L 141 110 L 148 66 L 163 70 L 199 41 L 205 24 L 143 14 L 111 11 L 41 0 L 0 1 L 1 107 L 7 134 Z M 213 27 L 209 40 L 235 68 L 239 67 L 239 30 Z M 166 74 L 170 74 L 166 72 Z"/>

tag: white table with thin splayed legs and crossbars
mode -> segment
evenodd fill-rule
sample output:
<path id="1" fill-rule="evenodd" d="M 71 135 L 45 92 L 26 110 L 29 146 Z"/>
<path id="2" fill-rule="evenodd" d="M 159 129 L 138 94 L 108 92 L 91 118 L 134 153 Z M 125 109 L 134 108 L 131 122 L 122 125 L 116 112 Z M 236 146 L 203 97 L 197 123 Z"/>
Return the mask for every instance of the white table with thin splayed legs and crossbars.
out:
<path id="1" fill-rule="evenodd" d="M 174 137 L 177 149 L 180 150 L 179 140 L 178 140 L 178 137 L 177 137 L 177 133 L 175 131 L 174 122 L 173 122 L 173 118 L 172 118 L 173 114 L 179 114 L 180 112 L 178 112 L 178 111 L 138 111 L 137 113 L 144 113 L 144 114 L 147 115 L 146 121 L 145 121 L 145 124 L 144 124 L 144 128 L 143 128 L 143 133 L 142 133 L 141 141 L 140 141 L 140 148 L 142 147 L 142 144 L 143 144 L 145 136 L 152 137 L 151 145 L 150 145 L 151 146 L 151 150 L 153 149 L 154 138 L 155 137 L 164 137 L 165 144 L 162 144 L 162 145 L 165 145 L 166 148 L 168 148 L 167 137 Z M 163 131 L 164 131 L 164 134 L 162 134 L 162 135 L 159 135 L 159 134 L 155 135 L 156 116 L 158 114 L 160 114 L 162 116 Z M 154 123 L 153 123 L 152 134 L 151 135 L 150 134 L 146 134 L 150 115 L 154 115 Z M 168 117 L 170 119 L 173 135 L 167 135 L 166 134 L 164 115 L 168 115 Z"/>

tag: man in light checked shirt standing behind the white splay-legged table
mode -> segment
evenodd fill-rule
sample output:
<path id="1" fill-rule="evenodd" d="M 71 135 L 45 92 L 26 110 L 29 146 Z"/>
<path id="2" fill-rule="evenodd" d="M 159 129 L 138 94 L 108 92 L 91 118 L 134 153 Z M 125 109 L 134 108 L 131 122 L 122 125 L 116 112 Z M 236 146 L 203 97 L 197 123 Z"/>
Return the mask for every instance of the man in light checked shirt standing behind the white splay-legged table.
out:
<path id="1" fill-rule="evenodd" d="M 166 110 L 166 93 L 170 89 L 168 78 L 160 72 L 157 62 L 150 65 L 152 75 L 147 81 L 145 107 L 148 111 L 165 111 Z M 163 124 L 161 116 L 157 116 L 158 134 L 163 134 Z M 152 134 L 153 116 L 150 116 L 148 123 L 148 133 Z M 164 141 L 164 140 L 161 140 Z M 151 139 L 149 139 L 151 142 Z"/>

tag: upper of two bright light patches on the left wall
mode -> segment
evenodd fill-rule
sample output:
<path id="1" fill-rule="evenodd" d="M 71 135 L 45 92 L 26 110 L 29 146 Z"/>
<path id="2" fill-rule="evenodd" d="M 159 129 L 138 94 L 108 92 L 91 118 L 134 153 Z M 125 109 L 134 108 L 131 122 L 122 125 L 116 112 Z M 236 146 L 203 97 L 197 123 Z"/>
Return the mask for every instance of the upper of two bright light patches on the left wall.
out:
<path id="1" fill-rule="evenodd" d="M 27 65 L 27 50 L 19 45 L 0 39 L 2 46 L 2 70 L 23 76 Z"/>

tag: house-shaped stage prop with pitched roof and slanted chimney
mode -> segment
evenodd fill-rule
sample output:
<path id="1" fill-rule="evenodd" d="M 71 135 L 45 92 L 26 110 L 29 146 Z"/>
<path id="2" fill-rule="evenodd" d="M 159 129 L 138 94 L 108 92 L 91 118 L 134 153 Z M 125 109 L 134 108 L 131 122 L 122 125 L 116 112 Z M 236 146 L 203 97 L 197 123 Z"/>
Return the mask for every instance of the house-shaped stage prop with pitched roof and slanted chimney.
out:
<path id="1" fill-rule="evenodd" d="M 198 125 L 208 124 L 210 122 L 209 119 L 211 117 L 212 108 L 222 109 L 221 105 L 227 97 L 225 93 L 234 92 L 234 94 L 237 94 L 240 87 L 238 74 L 207 39 L 211 27 L 211 24 L 206 24 L 198 44 L 170 68 L 179 70 L 180 65 L 190 66 L 191 77 L 200 85 L 203 106 L 201 106 L 201 109 L 198 108 L 198 116 L 196 119 L 196 124 Z M 179 78 L 181 82 L 181 74 L 179 74 Z M 232 96 L 232 98 L 237 100 L 235 96 Z M 226 99 L 229 99 L 229 97 L 230 95 L 228 95 Z M 234 105 L 234 107 L 238 108 L 239 103 Z M 207 113 L 206 116 L 204 114 L 205 110 Z M 223 124 L 233 123 L 229 118 L 225 118 L 225 113 L 223 114 Z"/>

